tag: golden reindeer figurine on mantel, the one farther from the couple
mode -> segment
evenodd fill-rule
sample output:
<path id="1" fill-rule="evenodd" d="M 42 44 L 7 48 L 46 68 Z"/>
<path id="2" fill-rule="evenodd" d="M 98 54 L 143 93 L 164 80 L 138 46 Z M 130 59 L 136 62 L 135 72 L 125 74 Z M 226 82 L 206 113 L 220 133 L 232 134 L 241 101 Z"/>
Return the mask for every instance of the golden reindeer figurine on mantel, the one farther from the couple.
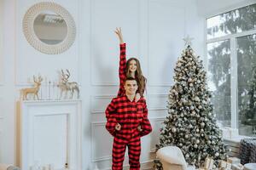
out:
<path id="1" fill-rule="evenodd" d="M 38 98 L 38 91 L 40 89 L 41 82 L 43 81 L 43 78 L 41 76 L 39 76 L 38 79 L 36 79 L 36 77 L 33 76 L 33 80 L 35 82 L 35 86 L 33 88 L 22 88 L 20 90 L 23 100 L 26 99 L 27 94 L 33 94 L 33 99 L 35 99 L 35 96 L 37 96 L 37 98 Z"/>

